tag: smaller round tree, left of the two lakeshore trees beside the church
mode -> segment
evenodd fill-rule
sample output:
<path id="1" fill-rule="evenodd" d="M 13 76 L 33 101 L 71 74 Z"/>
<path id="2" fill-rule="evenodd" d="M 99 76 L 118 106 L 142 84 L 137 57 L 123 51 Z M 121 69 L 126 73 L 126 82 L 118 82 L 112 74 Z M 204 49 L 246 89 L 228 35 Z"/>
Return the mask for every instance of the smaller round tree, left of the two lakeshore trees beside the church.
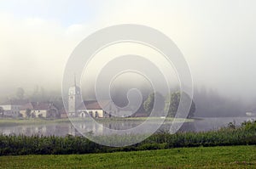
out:
<path id="1" fill-rule="evenodd" d="M 154 111 L 160 113 L 165 108 L 165 98 L 158 92 L 150 93 L 148 99 L 143 103 L 143 108 L 147 113 L 150 113 L 153 108 Z"/>

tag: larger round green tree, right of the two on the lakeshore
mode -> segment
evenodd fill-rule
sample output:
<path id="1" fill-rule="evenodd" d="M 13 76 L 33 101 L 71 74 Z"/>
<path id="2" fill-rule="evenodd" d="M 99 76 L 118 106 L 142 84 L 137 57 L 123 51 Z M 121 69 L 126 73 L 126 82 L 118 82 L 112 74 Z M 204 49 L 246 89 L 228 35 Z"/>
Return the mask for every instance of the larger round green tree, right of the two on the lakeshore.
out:
<path id="1" fill-rule="evenodd" d="M 180 92 L 175 92 L 175 93 L 172 93 L 171 96 L 168 96 L 167 101 L 166 101 L 166 103 L 167 103 L 166 106 L 167 106 L 167 108 L 169 108 L 168 109 L 169 116 L 173 117 L 176 115 L 178 105 L 180 102 L 180 95 L 181 95 Z M 183 93 L 183 97 L 184 97 L 185 102 L 187 102 L 187 101 L 189 102 L 191 100 L 187 93 Z M 194 116 L 194 114 L 195 114 L 195 102 L 192 99 L 188 118 L 192 118 Z"/>

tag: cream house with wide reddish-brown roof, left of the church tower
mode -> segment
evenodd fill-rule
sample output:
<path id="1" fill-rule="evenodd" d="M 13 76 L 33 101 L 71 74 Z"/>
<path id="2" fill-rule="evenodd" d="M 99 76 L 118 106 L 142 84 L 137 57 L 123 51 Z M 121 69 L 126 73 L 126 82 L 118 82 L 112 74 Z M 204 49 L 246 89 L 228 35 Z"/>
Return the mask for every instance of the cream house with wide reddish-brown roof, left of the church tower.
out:
<path id="1" fill-rule="evenodd" d="M 20 107 L 20 114 L 23 117 L 44 117 L 59 118 L 61 117 L 58 109 L 52 103 L 45 102 L 29 102 Z"/>

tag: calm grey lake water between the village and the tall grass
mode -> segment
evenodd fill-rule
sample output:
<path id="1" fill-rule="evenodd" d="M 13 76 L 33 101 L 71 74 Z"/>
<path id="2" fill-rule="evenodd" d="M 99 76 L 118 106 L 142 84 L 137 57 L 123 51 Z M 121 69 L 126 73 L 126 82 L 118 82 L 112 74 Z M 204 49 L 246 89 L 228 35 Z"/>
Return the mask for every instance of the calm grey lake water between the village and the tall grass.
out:
<path id="1" fill-rule="evenodd" d="M 220 127 L 226 127 L 229 122 L 235 122 L 236 125 L 240 125 L 241 122 L 247 121 L 250 117 L 221 117 L 221 118 L 204 118 L 202 120 L 195 120 L 193 122 L 185 122 L 183 123 L 183 127 L 180 128 L 181 131 L 193 131 L 193 132 L 201 132 L 201 131 L 209 131 L 209 130 L 217 130 Z M 111 129 L 127 129 L 136 127 L 139 125 L 140 121 L 126 121 L 124 122 L 104 122 L 102 125 L 104 127 L 108 127 Z M 107 134 L 104 131 L 104 127 L 96 127 L 92 123 L 78 123 L 79 127 L 83 128 L 86 132 L 96 131 L 98 134 Z M 154 125 L 154 124 L 150 124 Z M 164 124 L 160 127 L 160 131 L 166 131 L 170 128 L 171 124 Z M 25 134 L 25 135 L 55 135 L 55 136 L 66 136 L 67 134 L 79 135 L 79 132 L 75 130 L 73 125 L 69 122 L 67 123 L 59 123 L 59 124 L 47 124 L 47 125 L 22 125 L 15 127 L 0 127 L 0 133 L 3 134 Z"/>

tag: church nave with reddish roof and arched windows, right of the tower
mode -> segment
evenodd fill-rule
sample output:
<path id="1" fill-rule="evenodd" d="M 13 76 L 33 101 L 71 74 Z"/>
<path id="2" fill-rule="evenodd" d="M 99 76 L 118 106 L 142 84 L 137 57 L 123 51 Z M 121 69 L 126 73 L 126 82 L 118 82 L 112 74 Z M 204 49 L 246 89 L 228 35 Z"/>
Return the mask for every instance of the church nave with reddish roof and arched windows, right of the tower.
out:
<path id="1" fill-rule="evenodd" d="M 79 106 L 78 115 L 79 117 L 88 117 L 90 115 L 94 118 L 111 117 L 105 110 L 108 110 L 111 114 L 111 111 L 113 111 L 111 101 L 84 101 L 84 103 Z"/>

